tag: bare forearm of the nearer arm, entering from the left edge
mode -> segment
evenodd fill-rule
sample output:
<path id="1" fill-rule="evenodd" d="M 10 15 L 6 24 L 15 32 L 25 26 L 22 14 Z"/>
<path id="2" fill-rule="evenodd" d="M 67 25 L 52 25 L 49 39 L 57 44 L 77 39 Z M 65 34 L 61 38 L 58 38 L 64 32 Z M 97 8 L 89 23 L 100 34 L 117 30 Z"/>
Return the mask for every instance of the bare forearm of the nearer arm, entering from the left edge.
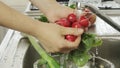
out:
<path id="1" fill-rule="evenodd" d="M 14 30 L 32 34 L 38 21 L 8 7 L 0 2 L 0 26 L 5 26 Z"/>

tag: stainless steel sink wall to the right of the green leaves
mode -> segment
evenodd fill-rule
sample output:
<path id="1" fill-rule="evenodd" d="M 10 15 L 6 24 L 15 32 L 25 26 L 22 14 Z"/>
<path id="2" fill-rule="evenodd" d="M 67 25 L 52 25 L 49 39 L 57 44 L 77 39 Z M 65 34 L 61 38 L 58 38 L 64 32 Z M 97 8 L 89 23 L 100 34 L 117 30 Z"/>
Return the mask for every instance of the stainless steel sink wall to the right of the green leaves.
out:
<path id="1" fill-rule="evenodd" d="M 92 51 L 96 54 L 96 48 Z M 104 38 L 103 45 L 97 47 L 97 51 L 97 56 L 111 61 L 115 68 L 120 68 L 120 38 Z"/>

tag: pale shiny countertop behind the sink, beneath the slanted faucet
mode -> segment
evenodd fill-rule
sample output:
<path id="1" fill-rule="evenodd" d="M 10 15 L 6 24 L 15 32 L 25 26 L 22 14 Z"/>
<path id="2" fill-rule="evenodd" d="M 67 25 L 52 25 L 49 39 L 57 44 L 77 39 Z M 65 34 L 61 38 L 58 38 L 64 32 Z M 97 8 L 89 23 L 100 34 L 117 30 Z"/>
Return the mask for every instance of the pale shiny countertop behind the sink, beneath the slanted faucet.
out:
<path id="1" fill-rule="evenodd" d="M 120 25 L 120 16 L 109 16 L 115 23 Z M 111 27 L 101 18 L 97 17 L 95 25 L 89 28 L 90 33 L 95 33 L 98 36 L 120 36 L 120 32 Z"/>

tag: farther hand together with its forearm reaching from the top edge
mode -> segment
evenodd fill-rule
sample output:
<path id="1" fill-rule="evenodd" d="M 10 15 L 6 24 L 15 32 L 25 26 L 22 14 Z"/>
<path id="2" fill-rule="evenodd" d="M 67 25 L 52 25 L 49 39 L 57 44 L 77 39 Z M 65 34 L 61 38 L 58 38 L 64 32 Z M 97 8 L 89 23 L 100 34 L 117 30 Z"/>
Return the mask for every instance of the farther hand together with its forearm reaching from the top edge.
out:
<path id="1" fill-rule="evenodd" d="M 50 22 L 55 22 L 60 18 L 67 17 L 68 14 L 73 13 L 74 10 L 59 4 L 56 0 L 30 0 L 42 13 L 48 18 Z"/>

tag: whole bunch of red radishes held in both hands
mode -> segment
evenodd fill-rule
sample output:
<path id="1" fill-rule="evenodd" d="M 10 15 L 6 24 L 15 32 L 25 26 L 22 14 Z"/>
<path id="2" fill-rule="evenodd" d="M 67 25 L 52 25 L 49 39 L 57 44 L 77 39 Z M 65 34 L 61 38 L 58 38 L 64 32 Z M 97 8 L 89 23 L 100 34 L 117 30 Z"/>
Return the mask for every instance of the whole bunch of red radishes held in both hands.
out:
<path id="1" fill-rule="evenodd" d="M 90 11 L 86 9 L 84 12 L 89 13 Z M 64 27 L 82 28 L 84 30 L 88 28 L 90 24 L 92 24 L 90 22 L 90 18 L 87 15 L 83 14 L 78 17 L 74 13 L 69 14 L 67 18 L 61 18 L 57 20 L 55 23 Z M 74 42 L 76 38 L 77 36 L 70 34 L 65 36 L 65 39 L 71 42 Z"/>

